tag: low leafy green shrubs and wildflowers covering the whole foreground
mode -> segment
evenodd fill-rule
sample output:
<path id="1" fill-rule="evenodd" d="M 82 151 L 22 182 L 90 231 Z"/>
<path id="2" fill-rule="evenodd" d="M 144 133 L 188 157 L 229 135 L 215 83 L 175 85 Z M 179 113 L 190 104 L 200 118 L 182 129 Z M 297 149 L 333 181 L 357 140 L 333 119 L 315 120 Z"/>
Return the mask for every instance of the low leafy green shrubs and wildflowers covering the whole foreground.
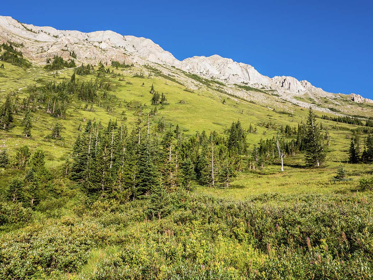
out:
<path id="1" fill-rule="evenodd" d="M 178 211 L 151 220 L 148 200 L 78 203 L 73 215 L 34 214 L 27 227 L 3 234 L 0 275 L 371 279 L 372 202 L 372 195 L 357 193 L 262 194 L 242 202 L 194 193 Z"/>

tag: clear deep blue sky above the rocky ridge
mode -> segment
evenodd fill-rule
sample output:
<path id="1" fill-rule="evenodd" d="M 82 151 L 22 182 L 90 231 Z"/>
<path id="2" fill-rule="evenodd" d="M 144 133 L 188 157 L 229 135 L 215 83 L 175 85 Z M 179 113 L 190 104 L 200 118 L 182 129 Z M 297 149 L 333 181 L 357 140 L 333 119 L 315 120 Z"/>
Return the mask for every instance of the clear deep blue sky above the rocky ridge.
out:
<path id="1" fill-rule="evenodd" d="M 179 60 L 218 54 L 373 99 L 372 1 L 3 2 L 1 15 L 28 24 L 146 37 Z"/>

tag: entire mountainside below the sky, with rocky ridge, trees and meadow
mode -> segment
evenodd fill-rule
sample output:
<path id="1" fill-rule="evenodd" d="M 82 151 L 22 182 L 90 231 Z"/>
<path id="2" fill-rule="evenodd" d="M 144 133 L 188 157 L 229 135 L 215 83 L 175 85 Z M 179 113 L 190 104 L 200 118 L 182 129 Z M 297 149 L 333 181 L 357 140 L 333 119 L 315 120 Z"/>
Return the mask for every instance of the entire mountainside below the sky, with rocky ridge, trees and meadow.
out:
<path id="1" fill-rule="evenodd" d="M 0 16 L 0 279 L 373 279 L 373 101 Z"/>

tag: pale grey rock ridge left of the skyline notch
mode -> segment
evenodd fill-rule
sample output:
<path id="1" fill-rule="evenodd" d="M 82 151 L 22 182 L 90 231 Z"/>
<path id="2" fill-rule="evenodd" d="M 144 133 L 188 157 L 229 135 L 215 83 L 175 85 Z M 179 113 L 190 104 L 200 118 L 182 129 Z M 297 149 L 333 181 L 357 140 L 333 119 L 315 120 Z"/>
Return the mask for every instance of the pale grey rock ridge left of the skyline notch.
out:
<path id="1" fill-rule="evenodd" d="M 150 39 L 123 36 L 113 31 L 90 33 L 57 30 L 53 27 L 37 27 L 21 24 L 10 16 L 0 16 L 0 41 L 25 43 L 23 53 L 35 63 L 44 63 L 47 57 L 56 53 L 63 55 L 63 49 L 74 50 L 78 61 L 89 63 L 129 59 L 132 62 L 144 60 L 167 65 L 178 65 L 173 55 L 163 50 Z"/>

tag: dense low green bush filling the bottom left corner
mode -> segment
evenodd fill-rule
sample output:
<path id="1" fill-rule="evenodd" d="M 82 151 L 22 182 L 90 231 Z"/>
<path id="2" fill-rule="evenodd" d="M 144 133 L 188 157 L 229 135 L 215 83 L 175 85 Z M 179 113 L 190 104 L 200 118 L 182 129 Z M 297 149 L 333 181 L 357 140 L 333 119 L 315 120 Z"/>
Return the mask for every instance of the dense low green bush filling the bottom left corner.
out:
<path id="1" fill-rule="evenodd" d="M 93 221 L 63 217 L 58 224 L 33 224 L 0 242 L 0 279 L 40 279 L 52 271 L 74 273 L 90 250 L 110 243 L 113 233 Z"/>

